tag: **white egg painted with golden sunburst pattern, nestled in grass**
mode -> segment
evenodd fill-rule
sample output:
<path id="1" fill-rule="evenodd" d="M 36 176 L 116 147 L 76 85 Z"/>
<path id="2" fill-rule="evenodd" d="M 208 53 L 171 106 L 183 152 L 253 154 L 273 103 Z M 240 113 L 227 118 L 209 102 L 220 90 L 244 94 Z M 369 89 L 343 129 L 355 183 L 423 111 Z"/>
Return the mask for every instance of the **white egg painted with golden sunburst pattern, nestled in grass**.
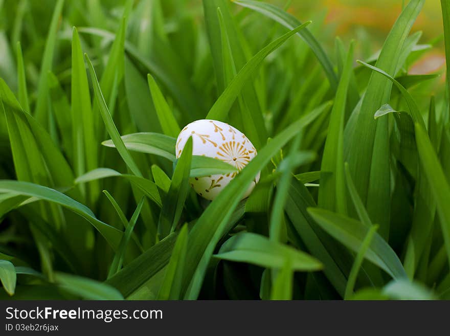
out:
<path id="1" fill-rule="evenodd" d="M 188 124 L 176 139 L 175 155 L 181 155 L 183 148 L 192 137 L 192 155 L 205 155 L 222 160 L 242 170 L 256 155 L 256 149 L 245 135 L 230 126 L 216 120 L 201 119 Z M 190 185 L 200 196 L 213 200 L 235 177 L 237 172 L 191 177 Z M 259 181 L 260 173 L 255 177 L 242 198 L 248 197 Z"/>

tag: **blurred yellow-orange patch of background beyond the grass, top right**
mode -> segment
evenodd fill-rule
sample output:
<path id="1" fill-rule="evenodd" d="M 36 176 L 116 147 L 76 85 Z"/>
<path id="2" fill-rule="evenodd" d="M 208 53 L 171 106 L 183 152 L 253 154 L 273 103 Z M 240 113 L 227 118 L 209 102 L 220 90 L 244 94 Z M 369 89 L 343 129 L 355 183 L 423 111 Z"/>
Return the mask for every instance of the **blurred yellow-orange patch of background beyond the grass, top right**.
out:
<path id="1" fill-rule="evenodd" d="M 408 0 L 292 0 L 287 11 L 301 20 L 309 19 L 311 14 L 322 11 L 325 27 L 334 32 L 334 35 L 347 40 L 354 38 L 357 42 L 364 40 L 370 42 L 367 46 L 362 46 L 361 43 L 359 45 L 359 56 L 367 57 L 381 48 L 402 7 L 408 2 Z M 273 3 L 279 6 L 286 5 L 286 1 L 281 0 L 275 0 Z M 439 0 L 425 2 L 412 29 L 412 32 L 417 31 L 422 32 L 419 43 L 433 43 L 434 48 L 410 69 L 410 73 L 426 74 L 443 69 L 445 55 Z M 323 42 L 331 44 L 332 40 Z"/>

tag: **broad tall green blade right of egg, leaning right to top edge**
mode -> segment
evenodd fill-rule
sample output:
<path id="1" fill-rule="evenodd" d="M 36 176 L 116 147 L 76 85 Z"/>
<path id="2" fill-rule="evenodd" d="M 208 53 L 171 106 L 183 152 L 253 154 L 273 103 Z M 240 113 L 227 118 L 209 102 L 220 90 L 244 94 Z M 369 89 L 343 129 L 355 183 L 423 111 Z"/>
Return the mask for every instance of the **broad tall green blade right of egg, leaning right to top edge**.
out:
<path id="1" fill-rule="evenodd" d="M 401 48 L 424 1 L 412 0 L 404 8 L 386 39 L 376 62 L 379 69 L 394 74 Z M 371 74 L 360 112 L 350 136 L 347 161 L 358 194 L 374 222 L 380 224 L 380 235 L 389 236 L 390 163 L 388 120 L 374 120 L 373 114 L 388 102 L 392 84 L 378 74 Z"/>

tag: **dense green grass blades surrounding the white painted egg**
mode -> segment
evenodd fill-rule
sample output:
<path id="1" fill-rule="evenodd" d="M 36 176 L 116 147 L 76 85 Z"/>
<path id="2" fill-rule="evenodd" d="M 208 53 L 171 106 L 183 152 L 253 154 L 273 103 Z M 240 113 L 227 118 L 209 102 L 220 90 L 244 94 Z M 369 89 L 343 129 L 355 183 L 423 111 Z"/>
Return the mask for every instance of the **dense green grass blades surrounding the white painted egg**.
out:
<path id="1" fill-rule="evenodd" d="M 424 0 L 380 50 L 274 2 L 45 3 L 0 2 L 0 299 L 450 299 L 449 0 L 431 74 Z M 175 158 L 205 118 L 258 150 L 212 202 L 235 168 Z"/>

